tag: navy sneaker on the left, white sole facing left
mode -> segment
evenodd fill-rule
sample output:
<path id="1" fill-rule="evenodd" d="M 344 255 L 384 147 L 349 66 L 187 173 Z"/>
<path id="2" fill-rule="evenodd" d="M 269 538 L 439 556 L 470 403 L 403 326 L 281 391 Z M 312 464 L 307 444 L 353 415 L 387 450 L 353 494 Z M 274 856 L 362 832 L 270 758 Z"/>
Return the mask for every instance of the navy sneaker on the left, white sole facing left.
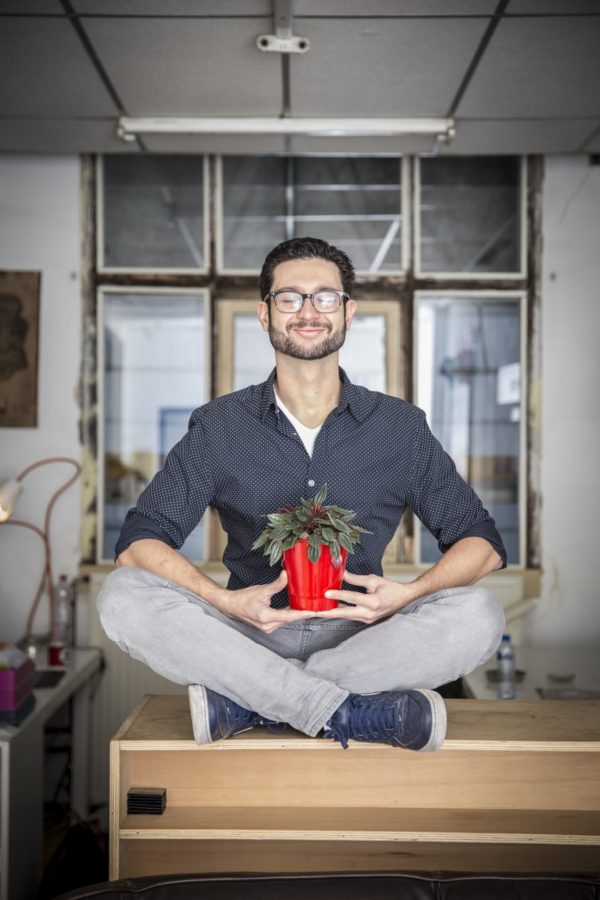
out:
<path id="1" fill-rule="evenodd" d="M 197 744 L 212 744 L 213 741 L 231 737 L 240 731 L 248 731 L 255 725 L 277 724 L 245 709 L 229 697 L 209 691 L 202 684 L 191 684 L 188 687 L 188 697 Z"/>

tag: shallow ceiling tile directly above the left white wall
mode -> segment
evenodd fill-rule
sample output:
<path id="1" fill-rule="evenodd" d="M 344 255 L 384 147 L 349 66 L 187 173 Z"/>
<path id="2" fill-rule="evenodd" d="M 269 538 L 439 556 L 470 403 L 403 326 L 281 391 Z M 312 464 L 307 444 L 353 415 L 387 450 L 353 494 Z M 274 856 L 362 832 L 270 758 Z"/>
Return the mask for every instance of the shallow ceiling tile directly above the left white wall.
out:
<path id="1" fill-rule="evenodd" d="M 0 119 L 0 152 L 135 153 L 109 119 Z"/>

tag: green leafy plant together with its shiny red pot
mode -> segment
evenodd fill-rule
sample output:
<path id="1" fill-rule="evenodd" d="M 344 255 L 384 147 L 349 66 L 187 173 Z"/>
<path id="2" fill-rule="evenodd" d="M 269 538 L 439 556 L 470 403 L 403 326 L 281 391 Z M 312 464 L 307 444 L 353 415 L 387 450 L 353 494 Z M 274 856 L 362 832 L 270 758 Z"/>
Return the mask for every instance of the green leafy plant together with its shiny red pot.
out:
<path id="1" fill-rule="evenodd" d="M 263 549 L 274 566 L 283 558 L 288 573 L 288 596 L 293 609 L 333 609 L 325 591 L 342 586 L 348 553 L 361 534 L 370 534 L 352 520 L 356 513 L 340 506 L 325 505 L 327 485 L 297 506 L 282 507 L 267 516 L 267 526 L 252 545 Z"/>

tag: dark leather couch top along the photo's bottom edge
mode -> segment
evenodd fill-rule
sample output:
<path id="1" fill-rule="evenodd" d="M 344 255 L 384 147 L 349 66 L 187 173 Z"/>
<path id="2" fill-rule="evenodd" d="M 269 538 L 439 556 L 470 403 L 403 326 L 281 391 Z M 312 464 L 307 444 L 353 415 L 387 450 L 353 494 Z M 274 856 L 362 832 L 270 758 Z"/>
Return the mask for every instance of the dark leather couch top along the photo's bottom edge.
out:
<path id="1" fill-rule="evenodd" d="M 598 876 L 165 875 L 126 878 L 56 900 L 600 900 Z"/>

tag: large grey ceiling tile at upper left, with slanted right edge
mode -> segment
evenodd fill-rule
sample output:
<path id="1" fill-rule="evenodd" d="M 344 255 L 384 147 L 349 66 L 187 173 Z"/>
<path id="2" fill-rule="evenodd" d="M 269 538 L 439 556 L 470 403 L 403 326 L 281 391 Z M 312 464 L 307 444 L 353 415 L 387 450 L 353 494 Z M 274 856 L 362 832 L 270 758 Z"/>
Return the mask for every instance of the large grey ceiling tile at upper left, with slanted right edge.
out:
<path id="1" fill-rule="evenodd" d="M 116 108 L 66 18 L 1 20 L 0 115 L 104 116 Z"/>

